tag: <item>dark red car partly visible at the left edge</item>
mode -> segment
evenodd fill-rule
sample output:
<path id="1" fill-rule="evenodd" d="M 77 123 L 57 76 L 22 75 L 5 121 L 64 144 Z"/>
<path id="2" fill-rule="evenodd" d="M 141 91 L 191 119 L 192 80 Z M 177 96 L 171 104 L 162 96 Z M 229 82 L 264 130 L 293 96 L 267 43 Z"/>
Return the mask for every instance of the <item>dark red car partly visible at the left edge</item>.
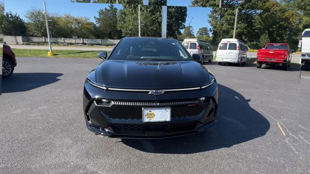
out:
<path id="1" fill-rule="evenodd" d="M 16 67 L 16 58 L 11 47 L 3 44 L 3 56 L 2 56 L 2 77 L 9 77 Z"/>

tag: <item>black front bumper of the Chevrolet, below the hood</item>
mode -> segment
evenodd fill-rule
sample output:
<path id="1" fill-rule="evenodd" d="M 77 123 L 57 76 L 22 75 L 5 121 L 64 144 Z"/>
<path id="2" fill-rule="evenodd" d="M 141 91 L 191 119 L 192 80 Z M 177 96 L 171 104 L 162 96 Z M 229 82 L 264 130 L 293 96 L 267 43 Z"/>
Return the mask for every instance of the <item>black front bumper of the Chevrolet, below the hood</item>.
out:
<path id="1" fill-rule="evenodd" d="M 197 100 L 201 97 L 205 97 L 203 102 Z M 216 83 L 207 89 L 153 96 L 144 92 L 98 89 L 86 81 L 83 104 L 86 126 L 96 134 L 156 139 L 198 133 L 211 127 L 217 118 L 217 99 Z M 142 107 L 167 106 L 171 107 L 170 122 L 142 122 Z"/>

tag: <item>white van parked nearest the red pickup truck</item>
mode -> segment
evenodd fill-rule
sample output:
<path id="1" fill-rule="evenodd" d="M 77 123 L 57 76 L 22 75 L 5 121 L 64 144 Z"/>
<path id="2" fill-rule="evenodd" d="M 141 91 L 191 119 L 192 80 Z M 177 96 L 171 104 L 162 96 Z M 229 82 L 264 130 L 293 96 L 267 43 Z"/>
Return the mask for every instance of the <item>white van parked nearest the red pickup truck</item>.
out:
<path id="1" fill-rule="evenodd" d="M 248 46 L 238 39 L 222 39 L 217 46 L 217 64 L 247 62 Z"/>

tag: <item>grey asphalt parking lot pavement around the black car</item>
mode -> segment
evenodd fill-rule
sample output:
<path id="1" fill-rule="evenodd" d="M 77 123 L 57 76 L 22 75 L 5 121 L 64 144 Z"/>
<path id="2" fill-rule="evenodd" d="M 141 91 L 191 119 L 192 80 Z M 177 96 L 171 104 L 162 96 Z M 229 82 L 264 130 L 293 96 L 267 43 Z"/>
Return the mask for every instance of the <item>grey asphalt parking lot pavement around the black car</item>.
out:
<path id="1" fill-rule="evenodd" d="M 310 173 L 310 80 L 299 69 L 206 63 L 217 123 L 162 140 L 88 131 L 83 83 L 99 59 L 17 58 L 2 80 L 0 171 L 7 173 Z"/>

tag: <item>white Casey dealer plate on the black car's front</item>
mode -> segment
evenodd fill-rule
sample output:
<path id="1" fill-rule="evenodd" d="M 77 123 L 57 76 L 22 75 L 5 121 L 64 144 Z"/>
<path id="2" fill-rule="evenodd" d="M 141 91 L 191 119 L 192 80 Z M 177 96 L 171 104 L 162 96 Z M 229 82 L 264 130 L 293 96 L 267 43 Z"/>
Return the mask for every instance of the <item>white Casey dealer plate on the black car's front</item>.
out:
<path id="1" fill-rule="evenodd" d="M 142 122 L 167 122 L 171 121 L 171 108 L 142 108 Z"/>

